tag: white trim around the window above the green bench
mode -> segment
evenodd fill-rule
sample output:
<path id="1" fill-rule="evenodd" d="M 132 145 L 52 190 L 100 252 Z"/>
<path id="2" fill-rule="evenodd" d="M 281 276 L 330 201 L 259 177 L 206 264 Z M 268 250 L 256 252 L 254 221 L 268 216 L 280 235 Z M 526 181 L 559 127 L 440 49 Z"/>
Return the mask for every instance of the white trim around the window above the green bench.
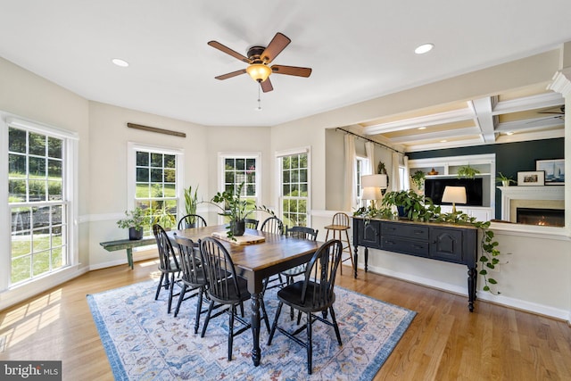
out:
<path id="1" fill-rule="evenodd" d="M 185 176 L 184 176 L 184 155 L 185 150 L 182 148 L 170 148 L 161 145 L 145 145 L 136 142 L 127 142 L 127 200 L 128 210 L 135 208 L 135 199 L 137 195 L 137 171 L 133 170 L 137 164 L 137 151 L 148 153 L 164 153 L 177 155 L 177 168 L 175 176 L 177 177 L 176 195 L 178 198 L 178 216 L 184 216 L 185 212 Z"/>

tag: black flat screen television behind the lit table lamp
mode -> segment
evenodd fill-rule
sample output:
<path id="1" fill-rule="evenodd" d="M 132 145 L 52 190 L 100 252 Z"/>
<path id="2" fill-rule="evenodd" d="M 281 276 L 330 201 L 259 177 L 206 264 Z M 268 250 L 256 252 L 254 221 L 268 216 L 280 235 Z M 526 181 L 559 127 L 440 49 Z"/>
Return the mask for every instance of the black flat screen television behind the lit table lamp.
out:
<path id="1" fill-rule="evenodd" d="M 464 186 L 466 188 L 465 205 L 483 206 L 482 178 L 426 178 L 425 195 L 436 205 L 451 205 L 443 203 L 443 193 L 446 186 Z"/>

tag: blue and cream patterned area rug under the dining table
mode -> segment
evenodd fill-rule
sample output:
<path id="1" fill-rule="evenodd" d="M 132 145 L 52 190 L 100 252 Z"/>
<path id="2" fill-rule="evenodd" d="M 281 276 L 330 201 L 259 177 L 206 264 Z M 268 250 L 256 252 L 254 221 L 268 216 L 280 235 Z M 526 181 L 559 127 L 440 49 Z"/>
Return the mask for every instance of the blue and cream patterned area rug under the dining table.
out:
<path id="1" fill-rule="evenodd" d="M 194 335 L 196 298 L 183 302 L 175 318 L 167 313 L 164 289 L 154 301 L 156 285 L 155 281 L 147 281 L 87 295 L 117 380 L 370 380 L 416 315 L 336 286 L 335 315 L 343 346 L 337 344 L 333 327 L 314 323 L 313 374 L 309 376 L 305 348 L 278 331 L 268 346 L 269 333 L 263 323 L 260 366 L 252 364 L 250 330 L 235 337 L 233 360 L 228 361 L 228 315 L 212 319 L 201 338 L 200 330 Z M 270 324 L 277 308 L 276 292 L 270 289 L 264 298 Z M 245 311 L 249 311 L 249 304 L 244 305 Z M 204 315 L 201 318 L 202 329 Z M 280 327 L 295 325 L 295 319 L 290 322 L 286 306 L 280 319 Z M 305 340 L 305 333 L 301 338 Z"/>

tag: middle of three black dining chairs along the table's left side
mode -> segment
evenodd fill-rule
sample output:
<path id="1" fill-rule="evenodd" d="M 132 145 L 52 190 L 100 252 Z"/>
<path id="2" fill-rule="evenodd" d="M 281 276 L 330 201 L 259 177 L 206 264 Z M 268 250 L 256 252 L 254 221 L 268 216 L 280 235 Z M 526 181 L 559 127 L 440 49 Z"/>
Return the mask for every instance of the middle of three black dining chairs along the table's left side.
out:
<path id="1" fill-rule="evenodd" d="M 182 274 L 180 276 L 180 283 L 182 289 L 178 295 L 177 308 L 175 309 L 175 318 L 180 310 L 180 304 L 186 299 L 197 296 L 196 301 L 196 315 L 194 316 L 194 334 L 198 333 L 200 326 L 200 314 L 203 310 L 203 294 L 206 288 L 206 274 L 202 266 L 202 259 L 200 250 L 194 244 L 194 241 L 189 238 L 177 236 L 174 233 L 175 242 L 178 245 L 178 254 Z M 195 291 L 195 292 L 194 292 Z M 186 293 L 192 294 L 186 296 Z M 194 292 L 194 293 L 193 293 Z"/>

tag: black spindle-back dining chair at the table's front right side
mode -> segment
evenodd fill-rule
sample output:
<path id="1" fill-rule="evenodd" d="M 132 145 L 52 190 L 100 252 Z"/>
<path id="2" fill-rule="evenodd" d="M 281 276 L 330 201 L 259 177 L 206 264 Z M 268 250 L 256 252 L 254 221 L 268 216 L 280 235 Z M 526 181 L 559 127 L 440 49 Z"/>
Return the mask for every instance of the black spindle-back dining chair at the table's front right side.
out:
<path id="1" fill-rule="evenodd" d="M 311 329 L 315 320 L 334 327 L 337 343 L 343 345 L 333 309 L 333 304 L 335 303 L 335 274 L 341 261 L 341 253 L 343 253 L 343 243 L 340 240 L 332 239 L 327 241 L 321 245 L 318 251 L 313 254 L 313 257 L 311 257 L 303 280 L 285 286 L 277 292 L 279 304 L 277 304 L 276 317 L 269 331 L 268 345 L 271 345 L 271 341 L 277 329 L 282 334 L 293 339 L 295 343 L 304 346 L 307 350 L 308 374 L 311 374 L 312 369 L 313 347 L 311 342 Z M 277 327 L 277 319 L 279 319 L 284 304 L 289 305 L 295 310 L 304 312 L 306 315 L 305 324 L 302 327 L 298 327 L 294 332 L 290 332 L 283 327 Z M 331 321 L 327 320 L 327 311 L 329 312 Z M 322 316 L 319 316 L 319 314 L 315 312 L 322 312 Z M 297 337 L 297 335 L 304 330 L 307 332 L 307 342 L 303 342 Z"/>

